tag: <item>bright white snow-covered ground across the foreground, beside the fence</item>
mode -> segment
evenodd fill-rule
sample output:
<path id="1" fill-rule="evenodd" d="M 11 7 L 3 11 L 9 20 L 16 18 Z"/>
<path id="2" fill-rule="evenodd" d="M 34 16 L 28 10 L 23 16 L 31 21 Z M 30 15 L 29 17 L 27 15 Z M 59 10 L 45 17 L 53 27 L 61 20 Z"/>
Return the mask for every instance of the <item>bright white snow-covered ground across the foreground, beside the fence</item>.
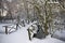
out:
<path id="1" fill-rule="evenodd" d="M 4 31 L 2 28 L 3 25 L 4 24 L 0 24 L 1 31 Z M 32 24 L 26 25 L 26 27 L 22 27 L 17 31 L 10 34 L 0 33 L 0 43 L 65 43 L 64 41 L 51 38 L 50 35 L 43 40 L 34 38 L 29 41 L 27 29 L 30 25 Z"/>

